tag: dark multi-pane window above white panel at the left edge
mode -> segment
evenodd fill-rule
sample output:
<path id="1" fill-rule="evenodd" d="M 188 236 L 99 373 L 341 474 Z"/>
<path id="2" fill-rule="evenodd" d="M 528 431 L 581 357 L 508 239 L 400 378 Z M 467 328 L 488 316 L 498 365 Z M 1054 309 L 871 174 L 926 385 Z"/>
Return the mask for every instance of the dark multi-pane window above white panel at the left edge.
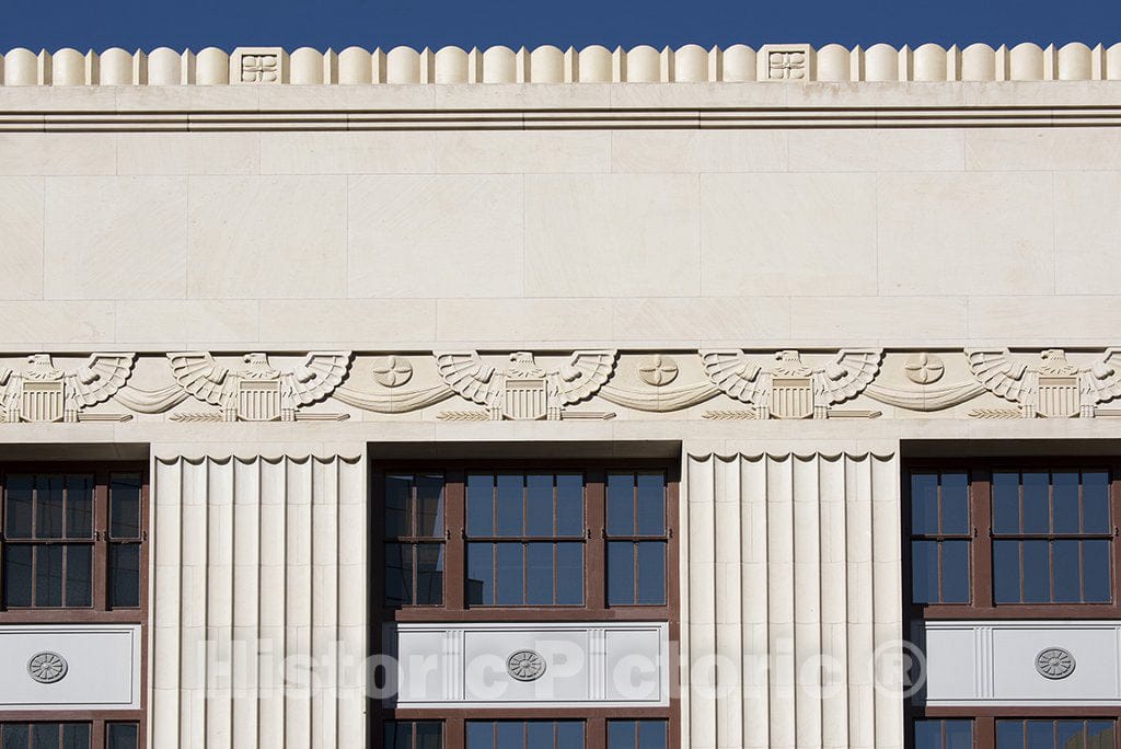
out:
<path id="1" fill-rule="evenodd" d="M 139 472 L 6 473 L 3 608 L 139 609 L 143 491 Z"/>

